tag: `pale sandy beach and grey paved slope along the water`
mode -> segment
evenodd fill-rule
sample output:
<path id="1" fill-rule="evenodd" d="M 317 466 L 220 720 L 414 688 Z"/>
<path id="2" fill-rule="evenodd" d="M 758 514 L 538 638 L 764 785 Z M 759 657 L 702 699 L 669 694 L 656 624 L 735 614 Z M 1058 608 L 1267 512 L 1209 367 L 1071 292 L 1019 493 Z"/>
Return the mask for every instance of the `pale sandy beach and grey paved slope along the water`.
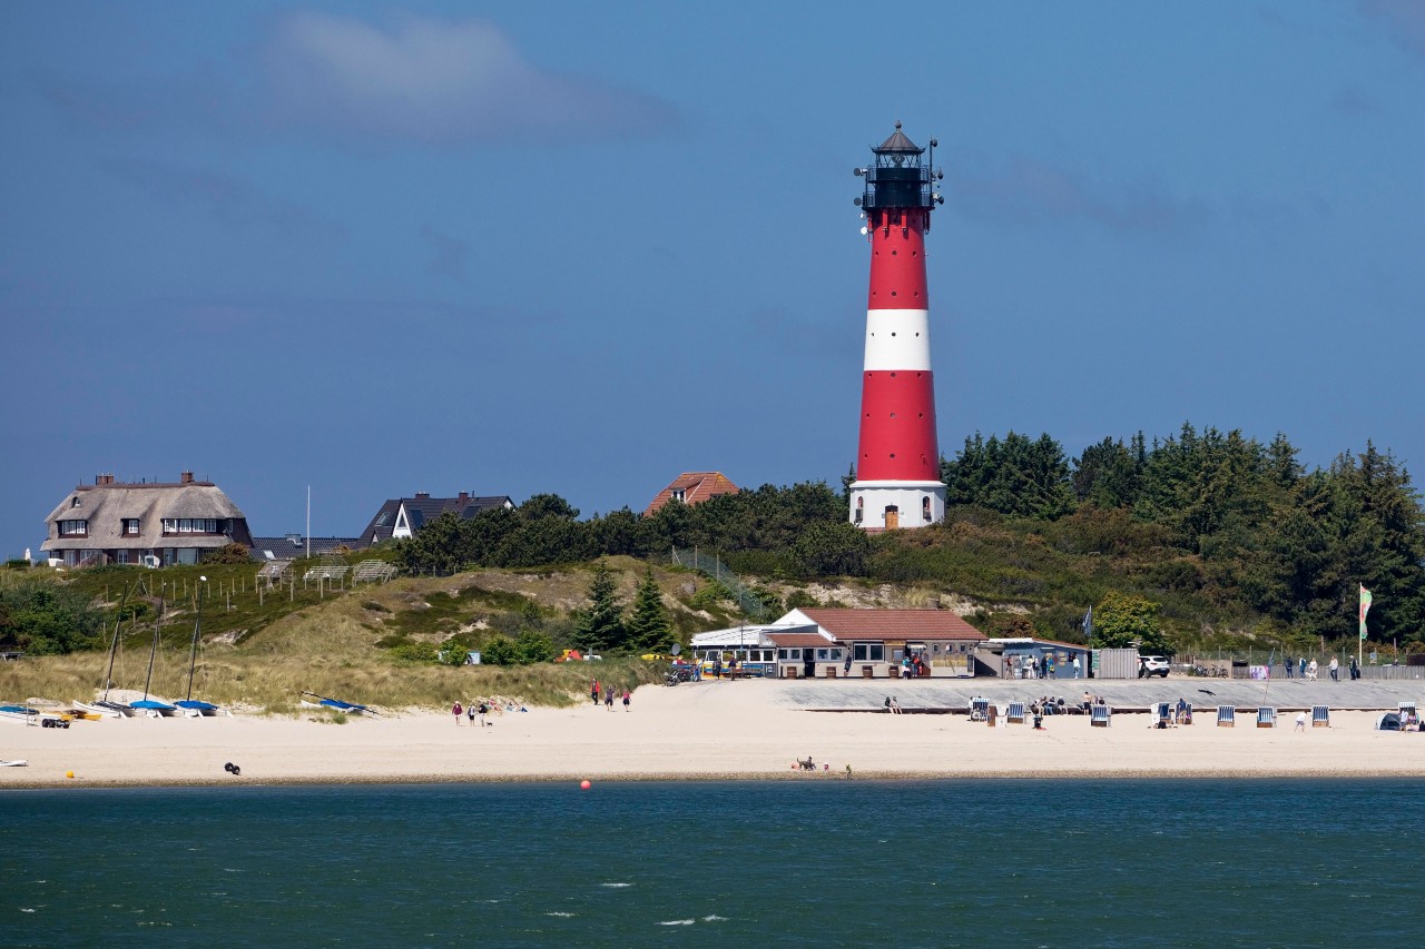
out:
<path id="1" fill-rule="evenodd" d="M 969 691 L 992 702 L 1032 697 L 1033 683 L 909 685 L 911 712 L 953 707 Z M 1046 683 L 1045 685 L 1052 685 Z M 1064 685 L 1064 684 L 1060 684 Z M 1079 684 L 1083 685 L 1082 683 Z M 1094 684 L 1110 704 L 1143 707 L 1144 694 L 1174 700 L 1183 685 Z M 316 715 L 128 718 L 76 721 L 67 730 L 0 722 L 0 789 L 34 787 L 158 787 L 302 782 L 610 781 L 610 779 L 845 779 L 938 777 L 1425 777 L 1425 734 L 1375 731 L 1378 711 L 1341 711 L 1351 693 L 1328 693 L 1331 727 L 1298 732 L 1294 705 L 1317 694 L 1278 690 L 1275 728 L 1255 727 L 1261 690 L 1216 685 L 1200 700 L 1196 724 L 1149 727 L 1147 714 L 1116 712 L 1109 728 L 1084 715 L 988 727 L 963 714 L 891 715 L 881 683 L 697 683 L 644 687 L 628 711 L 591 704 L 490 715 L 493 725 L 453 715 L 386 712 L 345 724 Z M 1052 688 L 1043 688 L 1052 693 Z M 1072 701 L 1079 693 L 1060 687 Z M 1394 710 L 1419 684 L 1401 684 L 1371 704 Z M 1220 728 L 1207 701 L 1251 705 L 1234 728 Z M 874 711 L 876 710 L 876 711 Z M 817 772 L 794 768 L 811 757 Z M 241 768 L 234 777 L 224 769 Z M 68 778 L 67 774 L 74 777 Z"/>

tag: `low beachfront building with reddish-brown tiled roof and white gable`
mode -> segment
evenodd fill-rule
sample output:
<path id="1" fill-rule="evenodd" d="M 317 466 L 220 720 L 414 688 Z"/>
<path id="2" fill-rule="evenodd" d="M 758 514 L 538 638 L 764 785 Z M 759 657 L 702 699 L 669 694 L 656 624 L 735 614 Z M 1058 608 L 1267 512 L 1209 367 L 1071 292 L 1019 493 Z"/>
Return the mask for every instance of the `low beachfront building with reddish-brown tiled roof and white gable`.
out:
<path id="1" fill-rule="evenodd" d="M 983 633 L 949 610 L 807 607 L 792 610 L 777 626 L 811 626 L 844 650 L 838 653 L 841 668 L 836 670 L 832 668 L 836 663 L 831 658 L 831 647 L 814 644 L 817 650 L 826 650 L 826 657 L 815 658 L 811 667 L 811 673 L 821 678 L 838 674 L 858 678 L 893 677 L 906 655 L 921 657 L 925 674 L 962 675 L 970 671 L 970 657 L 976 647 L 986 641 Z M 798 660 L 805 663 L 805 655 Z M 778 651 L 778 664 L 784 661 L 787 660 Z"/>

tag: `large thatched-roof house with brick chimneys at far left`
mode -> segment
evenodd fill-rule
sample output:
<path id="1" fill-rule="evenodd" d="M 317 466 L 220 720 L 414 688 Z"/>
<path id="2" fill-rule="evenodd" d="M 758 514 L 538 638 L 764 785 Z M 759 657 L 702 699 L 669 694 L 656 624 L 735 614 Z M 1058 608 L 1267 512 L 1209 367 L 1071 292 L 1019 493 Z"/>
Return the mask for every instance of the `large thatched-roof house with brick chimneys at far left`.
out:
<path id="1" fill-rule="evenodd" d="M 117 482 L 100 474 L 68 492 L 46 517 L 40 544 L 66 567 L 198 563 L 228 544 L 248 546 L 248 519 L 212 482 Z"/>

